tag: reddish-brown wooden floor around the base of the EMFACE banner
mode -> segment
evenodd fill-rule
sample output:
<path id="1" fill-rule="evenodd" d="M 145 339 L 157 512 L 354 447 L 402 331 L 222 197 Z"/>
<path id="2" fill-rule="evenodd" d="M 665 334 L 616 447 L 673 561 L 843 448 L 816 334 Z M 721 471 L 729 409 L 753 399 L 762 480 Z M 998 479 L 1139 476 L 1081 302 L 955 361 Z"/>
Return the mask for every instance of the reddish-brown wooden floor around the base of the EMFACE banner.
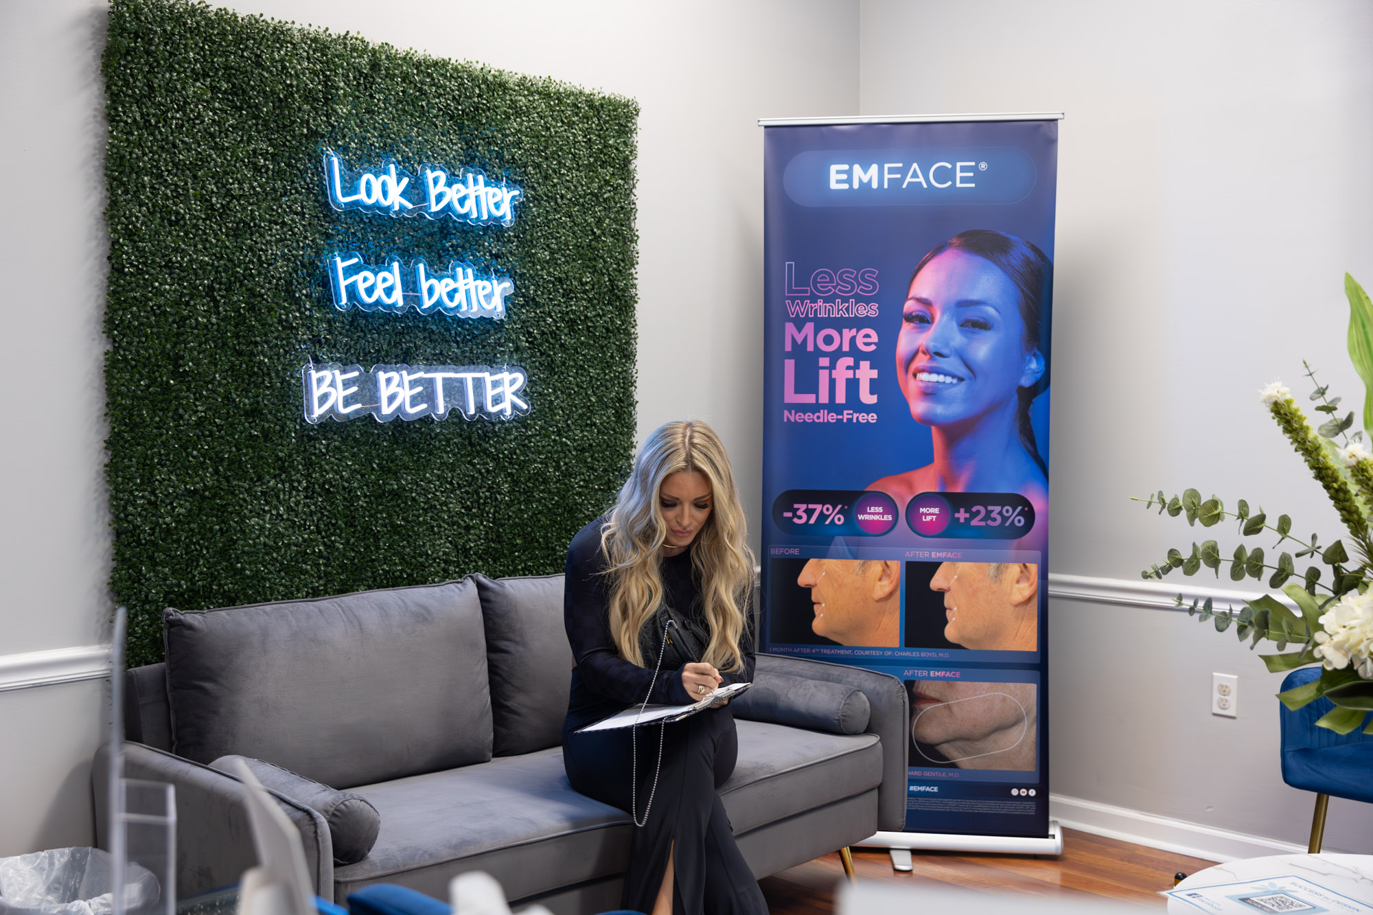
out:
<path id="1" fill-rule="evenodd" d="M 954 885 L 1002 893 L 1078 899 L 1108 897 L 1162 910 L 1157 890 L 1173 889 L 1178 871 L 1193 874 L 1214 861 L 1160 852 L 1076 830 L 1063 831 L 1063 855 L 965 855 L 914 852 L 914 870 L 891 870 L 884 850 L 854 849 L 858 879 L 912 888 Z M 843 879 L 839 853 L 763 878 L 761 885 L 773 915 L 813 915 L 833 911 L 835 886 Z"/>

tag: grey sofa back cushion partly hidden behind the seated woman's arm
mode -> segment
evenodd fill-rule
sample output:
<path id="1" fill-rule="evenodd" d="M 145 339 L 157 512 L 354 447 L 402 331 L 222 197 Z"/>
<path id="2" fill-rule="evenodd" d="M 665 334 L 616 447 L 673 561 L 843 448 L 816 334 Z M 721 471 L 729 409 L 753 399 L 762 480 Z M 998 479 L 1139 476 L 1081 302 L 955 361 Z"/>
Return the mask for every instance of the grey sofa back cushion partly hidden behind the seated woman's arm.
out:
<path id="1" fill-rule="evenodd" d="M 573 672 L 563 626 L 563 576 L 472 578 L 486 622 L 494 754 L 560 745 Z"/>

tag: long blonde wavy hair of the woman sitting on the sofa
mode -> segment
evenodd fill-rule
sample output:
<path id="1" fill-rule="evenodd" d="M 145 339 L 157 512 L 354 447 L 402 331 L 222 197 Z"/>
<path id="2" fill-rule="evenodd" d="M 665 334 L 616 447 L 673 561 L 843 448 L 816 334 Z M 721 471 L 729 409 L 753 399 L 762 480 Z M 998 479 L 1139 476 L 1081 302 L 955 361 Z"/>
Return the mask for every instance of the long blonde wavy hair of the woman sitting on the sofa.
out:
<path id="1" fill-rule="evenodd" d="M 601 551 L 610 577 L 610 631 L 619 655 L 644 664 L 638 636 L 663 602 L 659 551 L 667 525 L 658 490 L 676 473 L 696 471 L 710 481 L 713 508 L 692 541 L 691 561 L 710 626 L 702 661 L 719 670 L 743 664 L 740 639 L 754 583 L 754 554 L 744 543 L 744 510 L 735 471 L 715 430 L 703 422 L 665 423 L 649 433 L 634 468 L 605 512 Z M 686 613 L 689 607 L 674 607 Z"/>

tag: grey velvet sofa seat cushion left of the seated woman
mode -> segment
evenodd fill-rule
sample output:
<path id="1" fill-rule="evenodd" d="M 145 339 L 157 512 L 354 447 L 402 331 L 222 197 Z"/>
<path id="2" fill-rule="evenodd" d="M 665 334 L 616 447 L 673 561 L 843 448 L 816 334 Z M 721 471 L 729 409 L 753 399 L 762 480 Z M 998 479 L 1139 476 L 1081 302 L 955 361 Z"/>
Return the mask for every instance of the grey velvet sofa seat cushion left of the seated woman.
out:
<path id="1" fill-rule="evenodd" d="M 382 815 L 364 860 L 334 870 L 334 899 L 390 882 L 448 899 L 448 882 L 486 871 L 509 899 L 623 872 L 629 815 L 578 794 L 553 747 L 353 789 Z"/>

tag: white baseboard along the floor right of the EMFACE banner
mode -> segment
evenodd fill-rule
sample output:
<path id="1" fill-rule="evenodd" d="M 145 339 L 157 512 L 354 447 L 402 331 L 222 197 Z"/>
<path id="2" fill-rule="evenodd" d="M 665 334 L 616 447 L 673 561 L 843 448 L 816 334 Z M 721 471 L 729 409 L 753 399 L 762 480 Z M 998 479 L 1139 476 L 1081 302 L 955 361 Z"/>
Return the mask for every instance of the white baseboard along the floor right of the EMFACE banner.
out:
<path id="1" fill-rule="evenodd" d="M 1135 845 L 1190 855 L 1208 861 L 1234 861 L 1266 855 L 1304 855 L 1306 846 L 1232 833 L 1214 826 L 1114 806 L 1078 797 L 1049 794 L 1049 816 L 1064 828 L 1082 830 Z"/>

